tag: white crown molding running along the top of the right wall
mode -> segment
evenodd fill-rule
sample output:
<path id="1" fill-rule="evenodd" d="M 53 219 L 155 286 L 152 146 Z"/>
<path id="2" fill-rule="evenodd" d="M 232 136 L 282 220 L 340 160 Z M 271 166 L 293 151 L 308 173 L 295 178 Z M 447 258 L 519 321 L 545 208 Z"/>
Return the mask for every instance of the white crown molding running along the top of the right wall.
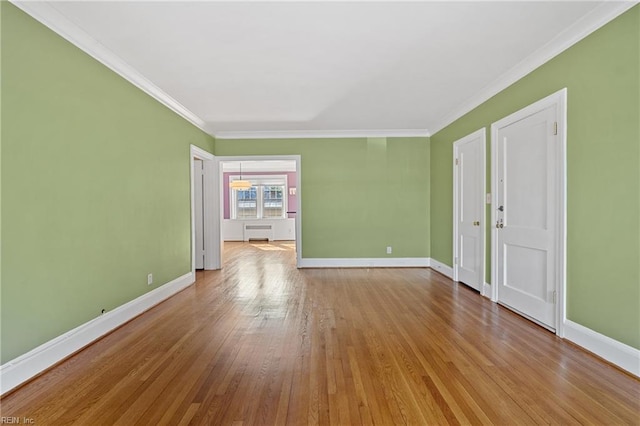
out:
<path id="1" fill-rule="evenodd" d="M 516 64 L 506 73 L 502 74 L 467 102 L 460 105 L 451 113 L 445 115 L 430 126 L 432 135 L 458 120 L 474 108 L 480 106 L 493 96 L 497 95 L 516 81 L 520 80 L 536 68 L 550 61 L 564 52 L 589 34 L 593 33 L 608 22 L 622 15 L 635 6 L 638 1 L 606 1 L 583 16 L 575 24 L 554 37 L 550 42 L 533 52 L 520 63 Z"/>

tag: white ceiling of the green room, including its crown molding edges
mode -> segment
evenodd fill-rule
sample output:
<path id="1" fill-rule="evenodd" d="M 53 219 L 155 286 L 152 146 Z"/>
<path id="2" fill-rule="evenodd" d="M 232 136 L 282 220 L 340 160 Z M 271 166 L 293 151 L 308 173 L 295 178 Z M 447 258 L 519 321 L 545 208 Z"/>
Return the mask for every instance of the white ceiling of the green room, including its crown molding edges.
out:
<path id="1" fill-rule="evenodd" d="M 16 4 L 208 133 L 259 137 L 433 134 L 634 2 Z"/>

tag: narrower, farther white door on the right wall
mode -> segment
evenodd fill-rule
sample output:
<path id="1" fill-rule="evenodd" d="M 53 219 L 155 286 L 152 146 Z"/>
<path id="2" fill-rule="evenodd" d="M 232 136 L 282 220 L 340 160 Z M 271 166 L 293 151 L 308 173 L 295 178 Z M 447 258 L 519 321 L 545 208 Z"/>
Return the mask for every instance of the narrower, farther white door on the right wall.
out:
<path id="1" fill-rule="evenodd" d="M 485 129 L 453 144 L 454 280 L 478 291 L 484 283 Z"/>

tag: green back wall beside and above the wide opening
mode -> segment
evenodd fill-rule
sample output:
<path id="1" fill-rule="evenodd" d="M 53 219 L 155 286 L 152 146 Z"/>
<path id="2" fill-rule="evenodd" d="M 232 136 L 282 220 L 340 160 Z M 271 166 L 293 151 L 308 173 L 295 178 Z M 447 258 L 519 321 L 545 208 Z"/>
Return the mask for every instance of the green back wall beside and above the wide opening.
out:
<path id="1" fill-rule="evenodd" d="M 429 138 L 217 139 L 215 148 L 301 156 L 303 258 L 429 257 Z"/>

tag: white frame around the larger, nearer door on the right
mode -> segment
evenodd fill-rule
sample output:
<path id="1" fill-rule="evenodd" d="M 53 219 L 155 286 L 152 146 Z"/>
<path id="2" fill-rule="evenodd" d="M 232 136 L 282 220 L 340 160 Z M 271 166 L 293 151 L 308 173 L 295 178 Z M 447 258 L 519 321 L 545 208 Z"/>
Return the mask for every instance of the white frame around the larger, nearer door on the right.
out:
<path id="1" fill-rule="evenodd" d="M 561 89 L 544 99 L 491 124 L 491 300 L 498 301 L 498 235 L 494 223 L 497 221 L 496 209 L 493 205 L 495 195 L 498 193 L 498 152 L 497 137 L 498 131 L 508 125 L 522 120 L 538 111 L 557 105 L 556 121 L 557 127 L 557 173 L 558 180 L 556 183 L 556 334 L 564 337 L 564 322 L 566 320 L 566 291 L 567 291 L 567 274 L 566 274 L 566 242 L 567 242 L 567 89 Z"/>

